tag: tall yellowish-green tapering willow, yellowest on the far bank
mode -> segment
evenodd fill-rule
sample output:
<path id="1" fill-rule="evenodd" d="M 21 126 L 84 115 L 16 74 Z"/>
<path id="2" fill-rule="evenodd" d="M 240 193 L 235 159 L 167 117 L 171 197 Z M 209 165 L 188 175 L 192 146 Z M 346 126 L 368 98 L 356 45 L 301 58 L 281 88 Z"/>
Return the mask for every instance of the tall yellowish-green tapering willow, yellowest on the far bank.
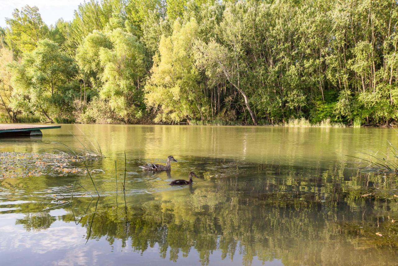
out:
<path id="1" fill-rule="evenodd" d="M 197 32 L 195 19 L 185 25 L 176 21 L 173 34 L 160 40 L 144 89 L 146 104 L 156 111 L 155 121 L 187 119 L 190 123 L 193 118 L 204 119 L 208 108 L 198 86 L 200 76 L 192 54 Z"/>

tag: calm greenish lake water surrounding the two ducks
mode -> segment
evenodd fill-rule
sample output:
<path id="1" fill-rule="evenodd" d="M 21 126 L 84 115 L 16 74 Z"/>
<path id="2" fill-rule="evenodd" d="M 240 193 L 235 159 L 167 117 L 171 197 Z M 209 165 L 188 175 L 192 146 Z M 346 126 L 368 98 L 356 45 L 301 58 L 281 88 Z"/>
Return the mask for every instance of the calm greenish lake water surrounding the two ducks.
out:
<path id="1" fill-rule="evenodd" d="M 78 139 L 105 155 L 87 162 L 99 199 L 82 162 L 40 157 Z M 171 125 L 2 138 L 1 264 L 397 265 L 398 178 L 348 156 L 391 159 L 388 141 L 398 147 L 393 129 Z M 168 155 L 170 172 L 138 167 Z M 168 185 L 190 171 L 193 184 Z M 75 181 L 94 199 L 75 185 L 70 202 Z"/>

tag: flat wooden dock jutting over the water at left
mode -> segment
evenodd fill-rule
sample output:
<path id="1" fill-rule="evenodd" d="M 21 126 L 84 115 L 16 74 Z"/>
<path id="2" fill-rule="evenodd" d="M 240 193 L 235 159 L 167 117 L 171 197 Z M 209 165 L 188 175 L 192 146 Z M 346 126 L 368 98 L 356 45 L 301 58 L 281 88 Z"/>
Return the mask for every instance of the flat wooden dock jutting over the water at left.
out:
<path id="1" fill-rule="evenodd" d="M 29 124 L 0 124 L 0 137 L 3 136 L 37 136 L 42 129 L 61 128 L 60 125 L 29 125 Z"/>

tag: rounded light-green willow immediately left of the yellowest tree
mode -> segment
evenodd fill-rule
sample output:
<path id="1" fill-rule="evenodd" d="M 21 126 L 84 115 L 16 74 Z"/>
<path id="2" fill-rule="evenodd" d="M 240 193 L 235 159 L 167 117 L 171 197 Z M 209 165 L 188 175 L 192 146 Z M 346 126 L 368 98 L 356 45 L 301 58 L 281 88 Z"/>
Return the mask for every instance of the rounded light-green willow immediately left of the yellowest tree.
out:
<path id="1" fill-rule="evenodd" d="M 145 49 L 137 37 L 120 28 L 107 36 L 112 49 L 100 49 L 100 64 L 103 67 L 100 96 L 125 122 L 133 122 L 140 119 L 145 111 L 140 88 L 146 77 Z"/>

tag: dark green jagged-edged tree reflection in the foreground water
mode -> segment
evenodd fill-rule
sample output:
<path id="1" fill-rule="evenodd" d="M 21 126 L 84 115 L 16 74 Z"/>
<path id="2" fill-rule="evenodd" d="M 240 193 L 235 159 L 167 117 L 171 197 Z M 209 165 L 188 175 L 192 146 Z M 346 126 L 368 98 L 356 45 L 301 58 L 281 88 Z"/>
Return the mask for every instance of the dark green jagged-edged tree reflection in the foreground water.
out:
<path id="1" fill-rule="evenodd" d="M 89 197 L 74 196 L 65 208 L 68 213 L 58 219 L 85 227 L 87 241 L 105 237 L 112 245 L 121 240 L 123 247 L 131 243 L 139 252 L 158 245 L 160 257 L 175 262 L 192 249 L 201 264 L 209 264 L 215 250 L 230 260 L 239 252 L 245 265 L 255 256 L 288 265 L 394 260 L 394 176 L 361 174 L 338 165 L 232 164 L 236 163 L 202 160 L 197 170 L 204 179 L 178 189 L 159 185 L 152 194 L 137 194 L 126 185 L 124 204 L 120 198 L 116 204 L 116 193 L 104 192 L 96 204 Z M 173 178 L 164 175 L 147 178 L 161 184 Z M 115 184 L 108 183 L 115 190 Z M 375 195 L 361 197 L 369 192 Z M 48 228 L 57 219 L 30 204 L 21 204 L 21 209 L 26 215 L 17 223 L 26 230 Z"/>

